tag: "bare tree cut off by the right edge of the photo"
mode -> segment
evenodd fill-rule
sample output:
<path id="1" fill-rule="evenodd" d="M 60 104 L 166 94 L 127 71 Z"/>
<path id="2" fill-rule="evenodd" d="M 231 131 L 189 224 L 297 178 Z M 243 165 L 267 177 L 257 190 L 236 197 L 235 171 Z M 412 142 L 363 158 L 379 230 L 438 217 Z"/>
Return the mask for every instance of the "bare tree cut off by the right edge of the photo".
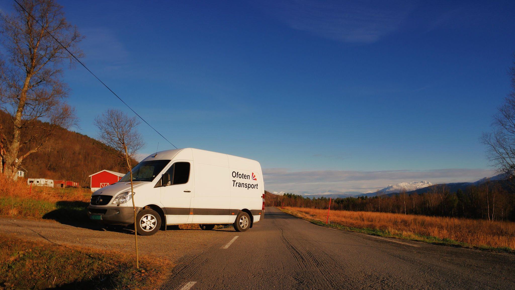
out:
<path id="1" fill-rule="evenodd" d="M 515 58 L 515 54 L 513 55 Z M 515 176 L 515 60 L 509 69 L 511 92 L 505 103 L 493 116 L 492 132 L 483 133 L 480 140 L 487 146 L 487 157 L 500 173 L 506 173 L 509 180 Z M 513 188 L 515 184 L 510 182 Z"/>

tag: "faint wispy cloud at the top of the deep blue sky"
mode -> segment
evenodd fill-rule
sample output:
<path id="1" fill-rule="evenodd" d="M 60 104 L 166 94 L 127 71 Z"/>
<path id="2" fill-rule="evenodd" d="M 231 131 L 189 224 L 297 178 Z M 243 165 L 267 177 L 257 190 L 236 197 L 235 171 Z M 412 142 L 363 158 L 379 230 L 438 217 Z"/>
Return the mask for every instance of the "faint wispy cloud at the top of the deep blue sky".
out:
<path id="1" fill-rule="evenodd" d="M 291 28 L 351 43 L 380 40 L 397 30 L 413 8 L 413 2 L 401 1 L 283 0 L 264 6 Z"/>

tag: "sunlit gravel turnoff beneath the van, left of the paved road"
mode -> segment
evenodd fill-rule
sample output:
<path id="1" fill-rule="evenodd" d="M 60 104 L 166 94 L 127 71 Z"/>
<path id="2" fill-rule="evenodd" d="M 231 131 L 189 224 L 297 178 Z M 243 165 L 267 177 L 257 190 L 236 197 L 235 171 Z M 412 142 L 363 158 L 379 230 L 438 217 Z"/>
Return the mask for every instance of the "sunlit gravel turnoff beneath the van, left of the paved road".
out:
<path id="1" fill-rule="evenodd" d="M 205 247 L 223 243 L 234 229 L 214 231 L 167 230 L 152 236 L 138 236 L 140 253 L 157 255 L 174 262 L 185 253 L 200 253 Z M 38 242 L 79 246 L 99 250 L 134 250 L 134 232 L 107 231 L 96 224 L 62 224 L 53 220 L 0 218 L 0 233 Z"/>

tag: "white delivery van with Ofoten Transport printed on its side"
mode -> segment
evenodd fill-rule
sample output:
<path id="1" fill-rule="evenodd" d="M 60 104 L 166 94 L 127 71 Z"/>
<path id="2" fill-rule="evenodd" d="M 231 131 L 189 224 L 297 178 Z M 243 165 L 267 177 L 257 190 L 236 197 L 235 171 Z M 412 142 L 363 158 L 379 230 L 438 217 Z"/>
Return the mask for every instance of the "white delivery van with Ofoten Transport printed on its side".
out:
<path id="1" fill-rule="evenodd" d="M 152 154 L 132 168 L 136 229 L 152 235 L 166 225 L 198 223 L 212 230 L 233 224 L 238 232 L 264 216 L 264 182 L 259 162 L 185 148 Z M 95 191 L 90 219 L 108 224 L 134 223 L 130 174 Z"/>

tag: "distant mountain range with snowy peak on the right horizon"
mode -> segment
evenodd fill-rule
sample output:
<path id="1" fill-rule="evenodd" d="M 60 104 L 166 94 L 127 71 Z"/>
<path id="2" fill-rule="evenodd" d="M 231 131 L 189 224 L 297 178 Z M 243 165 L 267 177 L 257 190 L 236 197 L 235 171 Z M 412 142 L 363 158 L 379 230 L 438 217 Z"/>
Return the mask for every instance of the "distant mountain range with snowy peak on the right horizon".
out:
<path id="1" fill-rule="evenodd" d="M 449 188 L 451 192 L 455 192 L 458 189 L 464 190 L 467 187 L 471 185 L 480 185 L 488 181 L 498 181 L 498 180 L 506 180 L 507 175 L 506 174 L 497 174 L 495 176 L 492 176 L 490 178 L 482 178 L 475 182 L 457 182 L 457 183 L 445 183 L 444 185 Z M 432 184 L 428 181 L 414 181 L 414 182 L 401 182 L 398 184 L 388 185 L 387 187 L 374 191 L 374 192 L 357 192 L 357 191 L 337 191 L 337 190 L 328 190 L 318 193 L 312 193 L 312 192 L 299 192 L 300 195 L 304 197 L 310 197 L 310 198 L 319 198 L 319 197 L 326 197 L 326 198 L 347 198 L 347 197 L 359 197 L 359 196 L 367 196 L 367 197 L 373 197 L 376 195 L 396 195 L 400 192 L 406 191 L 407 194 L 423 194 L 424 192 L 431 191 L 436 186 L 441 186 L 442 184 Z M 276 192 L 274 192 L 276 194 Z M 277 192 L 277 194 L 284 194 L 284 192 Z"/>

